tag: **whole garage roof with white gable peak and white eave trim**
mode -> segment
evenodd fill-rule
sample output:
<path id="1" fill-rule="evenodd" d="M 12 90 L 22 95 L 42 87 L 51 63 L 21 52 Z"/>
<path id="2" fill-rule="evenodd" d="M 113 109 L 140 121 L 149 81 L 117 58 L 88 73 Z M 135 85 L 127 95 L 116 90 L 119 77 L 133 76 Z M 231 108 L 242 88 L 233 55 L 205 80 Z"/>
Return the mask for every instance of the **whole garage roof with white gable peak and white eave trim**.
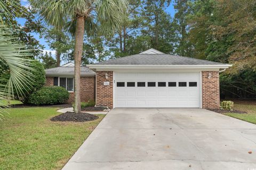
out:
<path id="1" fill-rule="evenodd" d="M 149 49 L 140 54 L 130 55 L 126 57 L 116 58 L 109 61 L 103 61 L 95 63 L 89 66 L 90 69 L 104 69 L 104 68 L 215 68 L 215 69 L 226 69 L 232 65 L 217 63 L 207 60 L 199 60 L 191 57 L 182 57 L 178 55 L 170 55 L 159 52 L 156 49 Z"/>

